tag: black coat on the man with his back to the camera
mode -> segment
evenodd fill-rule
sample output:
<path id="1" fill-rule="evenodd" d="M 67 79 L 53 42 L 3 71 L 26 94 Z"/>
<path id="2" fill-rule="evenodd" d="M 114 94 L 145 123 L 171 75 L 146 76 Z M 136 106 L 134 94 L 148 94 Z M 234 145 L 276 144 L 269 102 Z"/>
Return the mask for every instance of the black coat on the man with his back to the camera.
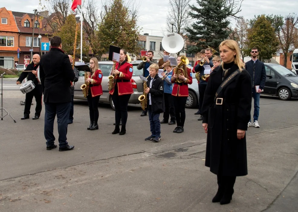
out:
<path id="1" fill-rule="evenodd" d="M 52 47 L 39 62 L 40 81 L 45 103 L 71 102 L 70 81 L 75 73 L 68 55 L 60 48 Z"/>

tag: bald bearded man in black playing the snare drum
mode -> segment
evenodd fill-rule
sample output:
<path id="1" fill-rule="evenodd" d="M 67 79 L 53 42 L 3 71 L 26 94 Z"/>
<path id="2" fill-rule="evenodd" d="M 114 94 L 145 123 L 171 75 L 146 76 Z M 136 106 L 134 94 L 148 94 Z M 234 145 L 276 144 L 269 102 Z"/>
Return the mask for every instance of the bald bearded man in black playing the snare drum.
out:
<path id="1" fill-rule="evenodd" d="M 30 114 L 30 108 L 31 108 L 31 103 L 33 96 L 35 97 L 36 100 L 36 107 L 35 107 L 35 114 L 32 119 L 39 119 L 40 112 L 41 112 L 41 104 L 42 104 L 42 87 L 41 84 L 38 83 L 37 81 L 37 68 L 39 66 L 39 61 L 40 61 L 40 56 L 38 54 L 33 55 L 33 59 L 31 64 L 28 64 L 27 68 L 25 71 L 29 72 L 23 72 L 21 73 L 21 76 L 17 80 L 17 85 L 21 84 L 21 82 L 28 76 L 28 80 L 32 80 L 32 82 L 35 85 L 35 88 L 26 93 L 26 99 L 25 99 L 25 110 L 24 110 L 24 117 L 21 119 L 28 119 L 29 114 Z M 30 72 L 32 71 L 32 72 Z"/>

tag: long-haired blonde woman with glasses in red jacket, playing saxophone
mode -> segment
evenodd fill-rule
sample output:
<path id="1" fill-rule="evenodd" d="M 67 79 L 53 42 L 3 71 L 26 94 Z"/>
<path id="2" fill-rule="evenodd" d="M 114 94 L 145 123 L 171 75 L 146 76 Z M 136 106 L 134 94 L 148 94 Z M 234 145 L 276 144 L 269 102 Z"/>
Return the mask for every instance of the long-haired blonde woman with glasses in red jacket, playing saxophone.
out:
<path id="1" fill-rule="evenodd" d="M 86 83 L 89 83 L 89 92 L 87 96 L 87 101 L 89 105 L 89 115 L 90 115 L 90 126 L 87 129 L 96 130 L 98 129 L 98 102 L 99 97 L 102 95 L 102 72 L 98 67 L 97 58 L 90 59 L 90 77 L 86 79 Z"/>

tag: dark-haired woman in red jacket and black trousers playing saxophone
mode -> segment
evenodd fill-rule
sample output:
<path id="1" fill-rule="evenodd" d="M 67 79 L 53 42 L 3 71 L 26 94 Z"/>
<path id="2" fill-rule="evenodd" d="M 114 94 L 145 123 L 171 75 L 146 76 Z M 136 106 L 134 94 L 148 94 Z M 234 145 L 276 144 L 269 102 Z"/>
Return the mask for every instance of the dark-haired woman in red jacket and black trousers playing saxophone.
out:
<path id="1" fill-rule="evenodd" d="M 116 75 L 113 89 L 109 92 L 112 95 L 112 100 L 115 107 L 115 129 L 112 134 L 124 135 L 126 133 L 127 121 L 127 105 L 131 94 L 134 92 L 131 84 L 131 77 L 133 73 L 132 64 L 128 63 L 128 56 L 124 49 L 120 50 L 120 62 L 116 63 L 115 70 L 112 74 Z M 120 120 L 122 120 L 120 131 Z"/>

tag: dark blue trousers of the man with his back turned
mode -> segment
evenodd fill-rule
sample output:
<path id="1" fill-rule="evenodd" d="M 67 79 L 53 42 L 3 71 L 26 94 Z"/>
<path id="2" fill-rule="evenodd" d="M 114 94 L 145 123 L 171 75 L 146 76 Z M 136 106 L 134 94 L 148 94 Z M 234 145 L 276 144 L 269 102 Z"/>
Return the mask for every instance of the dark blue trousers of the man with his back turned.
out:
<path id="1" fill-rule="evenodd" d="M 44 114 L 44 137 L 47 140 L 47 146 L 54 145 L 55 136 L 53 134 L 54 130 L 54 120 L 57 114 L 58 123 L 58 133 L 59 133 L 59 146 L 64 148 L 67 146 L 67 121 L 69 118 L 69 111 L 71 102 L 66 103 L 44 103 L 45 114 Z"/>

